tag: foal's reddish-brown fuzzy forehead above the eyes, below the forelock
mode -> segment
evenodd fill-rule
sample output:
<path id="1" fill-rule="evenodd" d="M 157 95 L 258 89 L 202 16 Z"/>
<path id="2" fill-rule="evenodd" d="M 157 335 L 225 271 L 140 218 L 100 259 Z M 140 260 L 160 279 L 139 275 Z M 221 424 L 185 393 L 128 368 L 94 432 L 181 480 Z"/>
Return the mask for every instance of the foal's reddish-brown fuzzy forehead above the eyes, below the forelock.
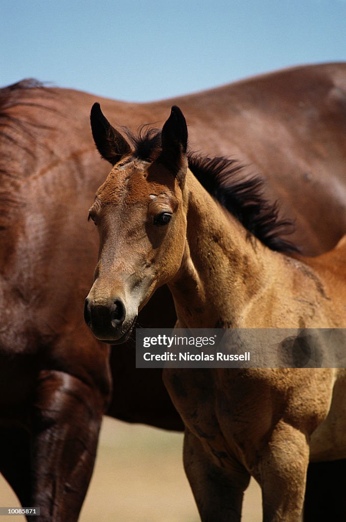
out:
<path id="1" fill-rule="evenodd" d="M 97 191 L 102 204 L 148 202 L 152 195 L 175 192 L 175 179 L 164 167 L 143 160 L 117 164 Z"/>

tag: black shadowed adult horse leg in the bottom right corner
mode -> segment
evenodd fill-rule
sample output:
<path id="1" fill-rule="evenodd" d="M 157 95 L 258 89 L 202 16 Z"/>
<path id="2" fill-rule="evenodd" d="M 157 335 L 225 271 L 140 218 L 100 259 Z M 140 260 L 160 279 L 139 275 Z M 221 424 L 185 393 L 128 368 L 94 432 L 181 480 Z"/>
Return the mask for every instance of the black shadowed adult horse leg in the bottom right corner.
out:
<path id="1" fill-rule="evenodd" d="M 307 472 L 304 522 L 346 520 L 346 460 L 310 462 Z"/>

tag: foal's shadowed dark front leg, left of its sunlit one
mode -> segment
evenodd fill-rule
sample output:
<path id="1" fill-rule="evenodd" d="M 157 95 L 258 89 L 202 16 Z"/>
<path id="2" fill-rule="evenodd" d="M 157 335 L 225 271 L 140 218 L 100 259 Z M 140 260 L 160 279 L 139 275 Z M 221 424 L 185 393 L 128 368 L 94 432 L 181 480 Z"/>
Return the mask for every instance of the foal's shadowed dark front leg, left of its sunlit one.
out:
<path id="1" fill-rule="evenodd" d="M 227 471 L 217 466 L 188 429 L 184 436 L 183 459 L 202 522 L 240 522 L 244 491 L 250 481 L 247 470 L 234 461 L 231 473 L 229 457 Z"/>

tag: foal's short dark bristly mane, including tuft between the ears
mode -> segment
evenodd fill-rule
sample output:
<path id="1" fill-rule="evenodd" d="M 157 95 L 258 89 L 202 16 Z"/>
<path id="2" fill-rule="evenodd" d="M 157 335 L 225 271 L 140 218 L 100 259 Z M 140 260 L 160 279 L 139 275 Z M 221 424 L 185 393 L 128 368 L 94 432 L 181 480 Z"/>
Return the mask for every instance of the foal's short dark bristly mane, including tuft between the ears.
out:
<path id="1" fill-rule="evenodd" d="M 137 134 L 121 127 L 134 146 L 136 158 L 154 161 L 161 151 L 161 134 L 143 125 Z M 263 197 L 264 180 L 244 173 L 243 165 L 225 157 L 207 158 L 188 151 L 191 172 L 219 203 L 243 226 L 271 250 L 298 252 L 283 236 L 294 231 L 290 220 L 279 218 L 279 205 Z M 249 235 L 250 237 L 250 235 Z"/>

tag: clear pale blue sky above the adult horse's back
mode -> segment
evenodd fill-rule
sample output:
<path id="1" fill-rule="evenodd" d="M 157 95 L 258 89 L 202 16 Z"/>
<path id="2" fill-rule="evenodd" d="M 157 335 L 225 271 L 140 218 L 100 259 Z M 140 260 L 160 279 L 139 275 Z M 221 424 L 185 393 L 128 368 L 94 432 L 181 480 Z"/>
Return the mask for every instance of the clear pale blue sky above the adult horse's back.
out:
<path id="1" fill-rule="evenodd" d="M 128 101 L 346 61 L 346 0 L 2 0 L 0 86 L 35 77 Z"/>

